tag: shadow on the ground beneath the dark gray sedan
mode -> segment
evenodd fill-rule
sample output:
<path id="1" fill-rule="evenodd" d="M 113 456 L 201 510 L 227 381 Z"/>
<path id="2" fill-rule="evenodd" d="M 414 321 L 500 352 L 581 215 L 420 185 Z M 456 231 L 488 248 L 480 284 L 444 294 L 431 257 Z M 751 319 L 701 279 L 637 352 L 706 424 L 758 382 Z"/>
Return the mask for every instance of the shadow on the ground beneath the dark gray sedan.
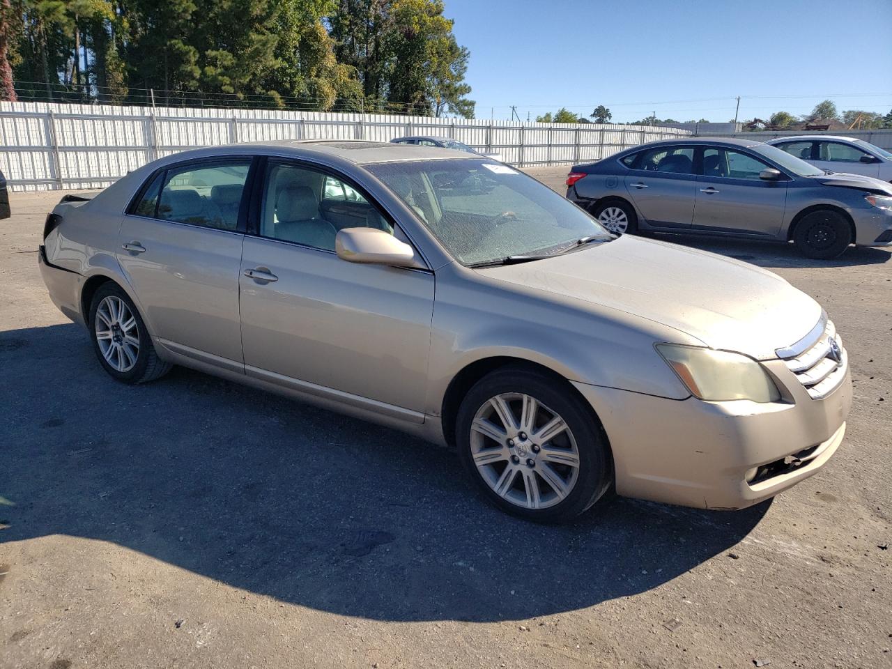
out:
<path id="1" fill-rule="evenodd" d="M 648 233 L 651 239 L 659 239 L 673 244 L 683 244 L 736 260 L 751 262 L 764 268 L 830 268 L 854 267 L 857 265 L 878 265 L 892 259 L 892 251 L 869 246 L 849 247 L 834 260 L 814 260 L 805 258 L 793 244 L 778 244 L 762 240 L 717 238 L 701 235 Z"/>

